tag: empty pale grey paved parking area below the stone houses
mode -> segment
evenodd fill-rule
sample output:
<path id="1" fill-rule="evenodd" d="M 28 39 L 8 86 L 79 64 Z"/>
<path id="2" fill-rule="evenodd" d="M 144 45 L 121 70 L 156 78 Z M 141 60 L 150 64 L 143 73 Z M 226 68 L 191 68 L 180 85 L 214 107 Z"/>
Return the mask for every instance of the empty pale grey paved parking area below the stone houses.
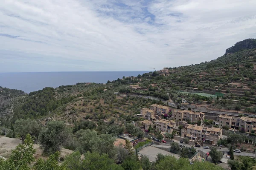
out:
<path id="1" fill-rule="evenodd" d="M 155 161 L 157 158 L 157 153 L 162 153 L 163 155 L 172 155 L 175 156 L 176 158 L 179 158 L 179 155 L 175 153 L 170 153 L 165 150 L 159 149 L 157 147 L 144 147 L 142 150 L 140 150 L 139 154 L 148 156 L 150 161 Z"/>

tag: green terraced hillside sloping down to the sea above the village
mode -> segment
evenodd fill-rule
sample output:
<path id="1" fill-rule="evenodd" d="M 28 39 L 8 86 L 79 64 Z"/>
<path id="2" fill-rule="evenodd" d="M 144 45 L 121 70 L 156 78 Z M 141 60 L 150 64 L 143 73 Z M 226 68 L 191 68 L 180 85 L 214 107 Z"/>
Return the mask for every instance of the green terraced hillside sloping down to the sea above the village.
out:
<path id="1" fill-rule="evenodd" d="M 55 117 L 74 123 L 81 119 L 121 121 L 125 116 L 132 121 L 140 108 L 152 103 L 150 99 L 117 96 L 114 92 L 118 91 L 155 96 L 184 107 L 256 113 L 256 49 L 241 50 L 242 47 L 251 48 L 248 44 L 253 45 L 254 40 L 237 42 L 228 48 L 233 51 L 239 48 L 233 54 L 200 64 L 167 68 L 165 73 L 155 71 L 107 84 L 77 83 L 44 88 L 26 96 L 23 91 L 2 88 L 5 108 L 2 106 L 1 119 L 7 123 L 19 118 Z M 129 85 L 139 88 L 131 89 Z M 3 116 L 3 110 L 7 110 L 9 116 Z"/>

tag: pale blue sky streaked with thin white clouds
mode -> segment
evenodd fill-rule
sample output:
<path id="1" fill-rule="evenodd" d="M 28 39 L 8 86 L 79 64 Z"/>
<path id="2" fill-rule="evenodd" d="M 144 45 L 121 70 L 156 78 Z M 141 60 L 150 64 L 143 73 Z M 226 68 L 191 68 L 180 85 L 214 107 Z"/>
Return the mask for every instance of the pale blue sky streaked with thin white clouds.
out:
<path id="1" fill-rule="evenodd" d="M 0 0 L 0 72 L 151 71 L 256 38 L 256 0 Z"/>

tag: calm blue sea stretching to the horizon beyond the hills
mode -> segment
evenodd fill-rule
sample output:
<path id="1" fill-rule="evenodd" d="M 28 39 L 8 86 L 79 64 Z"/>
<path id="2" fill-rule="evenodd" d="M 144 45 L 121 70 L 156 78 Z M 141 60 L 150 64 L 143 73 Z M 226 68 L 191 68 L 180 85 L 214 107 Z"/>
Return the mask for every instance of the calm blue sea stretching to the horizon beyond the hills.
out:
<path id="1" fill-rule="evenodd" d="M 75 85 L 78 82 L 106 83 L 123 76 L 137 76 L 149 71 L 84 71 L 84 72 L 21 72 L 0 73 L 0 86 L 26 93 L 45 87 Z"/>

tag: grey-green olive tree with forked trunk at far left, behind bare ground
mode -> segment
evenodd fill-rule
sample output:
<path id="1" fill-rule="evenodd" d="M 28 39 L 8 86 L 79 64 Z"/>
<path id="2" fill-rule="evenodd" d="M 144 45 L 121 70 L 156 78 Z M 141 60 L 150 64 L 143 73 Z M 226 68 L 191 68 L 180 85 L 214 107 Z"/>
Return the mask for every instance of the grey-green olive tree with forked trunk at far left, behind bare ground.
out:
<path id="1" fill-rule="evenodd" d="M 15 132 L 17 132 L 20 135 L 22 143 L 24 142 L 25 136 L 27 134 L 30 134 L 36 143 L 36 141 L 38 140 L 41 127 L 38 125 L 38 123 L 35 120 L 19 119 L 19 120 L 16 120 L 14 124 L 14 129 L 15 129 Z"/>

